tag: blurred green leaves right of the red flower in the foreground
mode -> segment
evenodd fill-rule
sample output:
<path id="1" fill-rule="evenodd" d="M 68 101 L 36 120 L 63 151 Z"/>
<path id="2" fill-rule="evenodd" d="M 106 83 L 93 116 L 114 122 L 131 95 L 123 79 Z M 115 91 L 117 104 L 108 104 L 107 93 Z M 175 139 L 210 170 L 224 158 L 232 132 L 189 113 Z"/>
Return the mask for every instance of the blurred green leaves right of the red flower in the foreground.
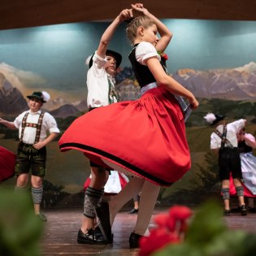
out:
<path id="1" fill-rule="evenodd" d="M 183 243 L 167 245 L 152 256 L 252 256 L 255 252 L 256 234 L 228 229 L 219 202 L 210 201 L 196 210 Z"/>

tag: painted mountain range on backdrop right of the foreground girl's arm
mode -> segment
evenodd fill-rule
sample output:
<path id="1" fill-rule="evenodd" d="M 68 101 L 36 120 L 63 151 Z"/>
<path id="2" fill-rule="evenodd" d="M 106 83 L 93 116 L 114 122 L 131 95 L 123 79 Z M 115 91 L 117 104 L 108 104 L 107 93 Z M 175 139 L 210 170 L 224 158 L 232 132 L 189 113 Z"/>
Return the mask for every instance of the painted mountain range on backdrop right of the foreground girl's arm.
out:
<path id="1" fill-rule="evenodd" d="M 233 69 L 179 70 L 174 79 L 197 98 L 256 100 L 256 63 Z"/>

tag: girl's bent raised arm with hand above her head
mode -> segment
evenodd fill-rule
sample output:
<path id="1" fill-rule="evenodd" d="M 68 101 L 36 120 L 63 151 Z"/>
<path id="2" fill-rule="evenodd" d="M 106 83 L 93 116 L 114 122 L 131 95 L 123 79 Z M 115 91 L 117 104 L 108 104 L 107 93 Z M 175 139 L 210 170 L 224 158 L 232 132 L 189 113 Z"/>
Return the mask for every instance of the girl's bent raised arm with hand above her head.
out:
<path id="1" fill-rule="evenodd" d="M 154 21 L 154 24 L 156 24 L 156 26 L 158 28 L 158 33 L 161 36 L 156 45 L 156 49 L 161 53 L 164 50 L 166 50 L 169 42 L 171 41 L 171 37 L 172 37 L 172 33 L 167 28 L 167 26 L 165 24 L 163 24 L 163 22 L 161 20 L 158 20 L 158 18 L 155 17 L 152 13 L 150 13 L 150 11 L 145 9 L 143 7 L 142 3 L 132 4 L 132 10 L 135 14 L 145 15 Z"/>

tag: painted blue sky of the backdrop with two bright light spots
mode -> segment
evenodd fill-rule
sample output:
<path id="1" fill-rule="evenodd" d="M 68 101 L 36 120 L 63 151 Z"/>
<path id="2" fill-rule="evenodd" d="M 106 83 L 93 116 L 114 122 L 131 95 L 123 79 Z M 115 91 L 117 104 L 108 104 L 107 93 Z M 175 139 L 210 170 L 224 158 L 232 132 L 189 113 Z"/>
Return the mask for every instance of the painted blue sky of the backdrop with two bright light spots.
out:
<path id="1" fill-rule="evenodd" d="M 256 62 L 256 22 L 163 20 L 173 33 L 166 53 L 168 70 L 241 67 Z M 12 72 L 26 88 L 76 94 L 86 89 L 85 59 L 98 47 L 109 23 L 59 24 L 0 31 L 0 72 Z M 130 66 L 132 49 L 121 25 L 109 47 Z"/>

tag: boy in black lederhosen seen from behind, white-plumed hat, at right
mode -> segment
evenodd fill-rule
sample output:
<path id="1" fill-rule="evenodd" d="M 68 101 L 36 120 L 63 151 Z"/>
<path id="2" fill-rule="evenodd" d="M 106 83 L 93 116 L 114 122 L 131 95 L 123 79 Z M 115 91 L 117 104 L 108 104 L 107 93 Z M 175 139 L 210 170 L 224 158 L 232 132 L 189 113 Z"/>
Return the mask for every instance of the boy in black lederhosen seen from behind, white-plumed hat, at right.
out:
<path id="1" fill-rule="evenodd" d="M 210 135 L 210 149 L 219 155 L 219 178 L 222 184 L 222 195 L 224 202 L 224 215 L 230 215 L 229 206 L 229 176 L 232 174 L 236 187 L 236 195 L 241 207 L 241 215 L 247 215 L 244 199 L 244 188 L 241 184 L 241 158 L 237 148 L 236 134 L 245 126 L 246 119 L 239 119 L 226 124 L 224 115 L 208 113 L 205 117 L 210 125 L 215 125 L 215 132 Z"/>

